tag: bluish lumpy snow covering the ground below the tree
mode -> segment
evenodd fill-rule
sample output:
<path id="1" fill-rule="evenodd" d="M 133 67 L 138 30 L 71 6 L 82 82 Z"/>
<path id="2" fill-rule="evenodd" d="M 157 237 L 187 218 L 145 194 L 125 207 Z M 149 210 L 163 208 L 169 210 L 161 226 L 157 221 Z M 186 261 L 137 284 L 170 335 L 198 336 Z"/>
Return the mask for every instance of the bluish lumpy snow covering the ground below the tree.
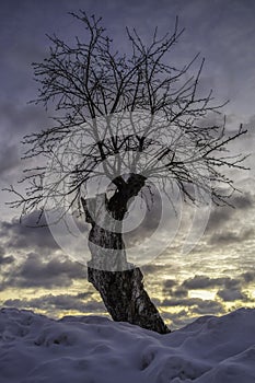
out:
<path id="1" fill-rule="evenodd" d="M 167 335 L 100 316 L 0 311 L 0 383 L 254 383 L 255 309 Z"/>

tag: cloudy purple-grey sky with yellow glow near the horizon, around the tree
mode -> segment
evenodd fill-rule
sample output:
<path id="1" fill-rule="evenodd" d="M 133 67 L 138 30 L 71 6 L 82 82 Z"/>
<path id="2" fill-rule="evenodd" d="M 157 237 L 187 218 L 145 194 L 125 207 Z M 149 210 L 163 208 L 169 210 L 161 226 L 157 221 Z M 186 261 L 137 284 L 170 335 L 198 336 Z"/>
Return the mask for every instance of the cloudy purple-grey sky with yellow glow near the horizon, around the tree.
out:
<path id="1" fill-rule="evenodd" d="M 125 26 L 147 39 L 158 25 L 172 30 L 175 18 L 185 27 L 175 60 L 186 63 L 205 57 L 201 89 L 212 89 L 230 130 L 242 123 L 247 134 L 233 150 L 250 153 L 250 170 L 232 176 L 242 190 L 232 197 L 235 208 L 212 207 L 204 235 L 182 254 L 183 234 L 161 256 L 144 265 L 146 287 L 166 323 L 179 326 L 195 316 L 223 314 L 255 304 L 255 3 L 252 0 L 65 1 L 3 0 L 0 10 L 0 186 L 21 178 L 21 139 L 49 126 L 49 113 L 30 104 L 37 96 L 31 63 L 43 60 L 46 34 L 63 39 L 81 34 L 68 12 L 85 10 L 103 18 L 116 46 L 125 46 Z M 1 192 L 0 304 L 31 307 L 51 316 L 105 313 L 98 294 L 85 281 L 85 265 L 65 254 L 48 228 L 21 225 Z M 26 223 L 33 220 L 27 217 Z"/>

